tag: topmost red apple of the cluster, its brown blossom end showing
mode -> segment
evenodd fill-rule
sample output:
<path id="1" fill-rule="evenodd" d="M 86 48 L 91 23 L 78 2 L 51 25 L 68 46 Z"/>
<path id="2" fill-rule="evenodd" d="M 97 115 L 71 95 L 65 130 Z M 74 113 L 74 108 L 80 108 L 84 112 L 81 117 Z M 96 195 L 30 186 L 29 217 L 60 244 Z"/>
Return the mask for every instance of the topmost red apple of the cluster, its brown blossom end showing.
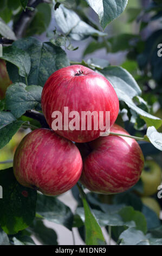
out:
<path id="1" fill-rule="evenodd" d="M 81 71 L 81 76 L 75 76 Z M 67 66 L 54 72 L 44 85 L 42 92 L 42 110 L 48 125 L 54 118 L 51 114 L 60 111 L 64 115 L 64 107 L 69 112 L 77 111 L 81 117 L 81 111 L 110 111 L 110 125 L 112 126 L 118 117 L 119 100 L 111 83 L 105 77 L 97 74 L 91 69 L 82 65 Z M 69 118 L 69 121 L 73 118 Z M 99 123 L 99 122 L 98 122 Z M 93 121 L 92 121 L 93 124 Z M 105 119 L 104 119 L 105 125 Z M 93 126 L 92 126 L 93 128 Z M 57 130 L 59 135 L 74 142 L 89 142 L 100 136 L 100 130 L 68 131 Z"/>

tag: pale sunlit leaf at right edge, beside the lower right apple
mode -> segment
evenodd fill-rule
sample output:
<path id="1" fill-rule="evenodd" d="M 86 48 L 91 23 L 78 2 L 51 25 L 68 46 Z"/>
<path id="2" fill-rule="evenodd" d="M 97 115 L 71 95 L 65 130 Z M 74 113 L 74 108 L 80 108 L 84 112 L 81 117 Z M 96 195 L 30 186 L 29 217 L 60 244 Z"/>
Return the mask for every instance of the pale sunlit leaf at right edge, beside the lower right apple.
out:
<path id="1" fill-rule="evenodd" d="M 148 127 L 147 137 L 155 148 L 162 151 L 162 133 L 158 132 L 154 126 Z"/>

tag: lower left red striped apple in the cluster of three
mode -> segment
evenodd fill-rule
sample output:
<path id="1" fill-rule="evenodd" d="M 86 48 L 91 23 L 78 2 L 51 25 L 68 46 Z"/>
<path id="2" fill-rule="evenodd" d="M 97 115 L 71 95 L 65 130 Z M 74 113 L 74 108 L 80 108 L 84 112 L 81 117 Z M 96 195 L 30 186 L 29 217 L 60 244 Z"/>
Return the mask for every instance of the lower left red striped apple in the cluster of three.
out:
<path id="1" fill-rule="evenodd" d="M 21 185 L 56 196 L 79 180 L 82 159 L 76 146 L 48 129 L 28 133 L 14 156 L 14 174 Z"/>

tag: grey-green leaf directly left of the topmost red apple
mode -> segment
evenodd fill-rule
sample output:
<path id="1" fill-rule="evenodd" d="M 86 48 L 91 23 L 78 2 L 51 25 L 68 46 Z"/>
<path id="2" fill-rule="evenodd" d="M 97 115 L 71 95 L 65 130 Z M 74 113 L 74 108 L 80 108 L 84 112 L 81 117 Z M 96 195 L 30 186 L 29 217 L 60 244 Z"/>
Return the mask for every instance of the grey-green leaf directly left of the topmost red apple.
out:
<path id="1" fill-rule="evenodd" d="M 19 118 L 27 110 L 41 109 L 41 86 L 25 86 L 15 83 L 8 87 L 5 97 L 6 108 Z"/>

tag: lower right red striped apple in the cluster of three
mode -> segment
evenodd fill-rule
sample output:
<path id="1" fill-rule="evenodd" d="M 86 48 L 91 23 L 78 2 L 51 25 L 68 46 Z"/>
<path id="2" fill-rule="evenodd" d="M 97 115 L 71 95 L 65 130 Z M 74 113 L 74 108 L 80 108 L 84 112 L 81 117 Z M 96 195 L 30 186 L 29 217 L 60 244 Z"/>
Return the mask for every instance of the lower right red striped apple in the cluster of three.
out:
<path id="1" fill-rule="evenodd" d="M 111 131 L 128 135 L 116 124 Z M 114 194 L 124 192 L 138 182 L 144 167 L 144 156 L 137 141 L 109 135 L 89 144 L 93 151 L 83 162 L 80 178 L 88 190 Z"/>

